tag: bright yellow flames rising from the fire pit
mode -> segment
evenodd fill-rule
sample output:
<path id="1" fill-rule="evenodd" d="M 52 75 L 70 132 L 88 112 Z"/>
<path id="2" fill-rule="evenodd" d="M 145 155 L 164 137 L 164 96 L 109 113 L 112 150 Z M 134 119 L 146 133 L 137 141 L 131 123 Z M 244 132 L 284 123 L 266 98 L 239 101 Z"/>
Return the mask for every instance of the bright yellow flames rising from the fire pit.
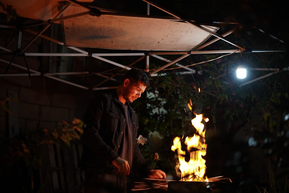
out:
<path id="1" fill-rule="evenodd" d="M 188 104 L 189 109 L 192 111 L 192 103 Z M 193 111 L 192 111 L 193 112 Z M 171 150 L 177 150 L 179 158 L 179 170 L 181 171 L 181 179 L 184 181 L 207 181 L 208 178 L 205 176 L 206 161 L 202 156 L 206 155 L 207 144 L 205 144 L 205 130 L 202 120 L 208 122 L 208 118 L 203 118 L 203 115 L 197 115 L 192 119 L 192 125 L 196 128 L 196 133 L 193 137 L 186 137 L 185 144 L 186 150 L 181 148 L 180 137 L 175 137 L 173 140 L 173 146 Z M 189 154 L 189 155 L 186 155 Z M 188 160 L 189 157 L 189 160 Z"/>

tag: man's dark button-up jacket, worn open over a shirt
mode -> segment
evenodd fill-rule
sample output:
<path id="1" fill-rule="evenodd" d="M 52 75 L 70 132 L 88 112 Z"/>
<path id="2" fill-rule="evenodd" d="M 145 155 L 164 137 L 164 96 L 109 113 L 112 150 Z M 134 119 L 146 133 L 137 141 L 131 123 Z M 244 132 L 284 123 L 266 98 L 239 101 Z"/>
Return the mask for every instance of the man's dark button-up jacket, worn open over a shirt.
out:
<path id="1" fill-rule="evenodd" d="M 126 102 L 131 117 L 131 133 L 134 144 L 133 170 L 146 174 L 152 167 L 146 162 L 137 144 L 138 116 Z M 123 131 L 125 127 L 125 112 L 118 100 L 117 92 L 98 95 L 88 106 L 84 118 L 86 128 L 82 135 L 83 153 L 78 164 L 81 168 L 101 170 L 111 174 L 114 170 L 112 161 L 119 157 Z"/>

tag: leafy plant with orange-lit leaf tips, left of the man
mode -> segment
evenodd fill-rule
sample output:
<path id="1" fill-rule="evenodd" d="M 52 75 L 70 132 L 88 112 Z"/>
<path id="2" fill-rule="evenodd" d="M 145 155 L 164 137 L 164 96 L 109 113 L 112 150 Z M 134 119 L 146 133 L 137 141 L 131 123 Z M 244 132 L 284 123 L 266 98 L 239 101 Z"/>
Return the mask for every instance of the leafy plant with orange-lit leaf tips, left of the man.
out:
<path id="1" fill-rule="evenodd" d="M 63 143 L 70 146 L 72 140 L 79 140 L 83 133 L 84 124 L 79 119 L 74 119 L 72 124 L 65 121 L 59 123 L 61 128 L 45 129 L 20 133 L 12 138 L 1 139 L 0 162 L 6 166 L 25 163 L 26 166 L 37 168 L 42 164 L 43 155 L 38 148 L 42 144 Z"/>

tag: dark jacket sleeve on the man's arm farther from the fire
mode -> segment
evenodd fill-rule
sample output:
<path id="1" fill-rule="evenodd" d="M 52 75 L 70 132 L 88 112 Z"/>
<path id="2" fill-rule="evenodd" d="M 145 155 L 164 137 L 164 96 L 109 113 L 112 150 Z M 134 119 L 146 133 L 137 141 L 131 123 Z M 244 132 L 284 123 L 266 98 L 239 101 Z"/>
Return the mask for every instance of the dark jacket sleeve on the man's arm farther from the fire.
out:
<path id="1" fill-rule="evenodd" d="M 84 117 L 86 128 L 84 128 L 82 140 L 97 157 L 103 161 L 112 162 L 119 156 L 99 135 L 101 120 L 107 104 L 108 99 L 103 95 L 99 95 L 88 106 Z"/>

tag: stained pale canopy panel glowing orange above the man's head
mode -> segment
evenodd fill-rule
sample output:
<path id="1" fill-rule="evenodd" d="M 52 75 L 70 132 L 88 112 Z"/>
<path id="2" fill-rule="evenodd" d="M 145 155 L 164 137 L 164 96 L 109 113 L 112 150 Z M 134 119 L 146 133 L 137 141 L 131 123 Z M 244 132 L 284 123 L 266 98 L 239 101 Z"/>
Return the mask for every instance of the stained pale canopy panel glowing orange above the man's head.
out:
<path id="1" fill-rule="evenodd" d="M 87 11 L 70 6 L 69 16 Z M 211 34 L 173 17 L 91 16 L 89 14 L 62 21 L 66 46 L 107 49 L 189 51 L 201 45 Z M 218 27 L 204 26 L 212 32 Z"/>

